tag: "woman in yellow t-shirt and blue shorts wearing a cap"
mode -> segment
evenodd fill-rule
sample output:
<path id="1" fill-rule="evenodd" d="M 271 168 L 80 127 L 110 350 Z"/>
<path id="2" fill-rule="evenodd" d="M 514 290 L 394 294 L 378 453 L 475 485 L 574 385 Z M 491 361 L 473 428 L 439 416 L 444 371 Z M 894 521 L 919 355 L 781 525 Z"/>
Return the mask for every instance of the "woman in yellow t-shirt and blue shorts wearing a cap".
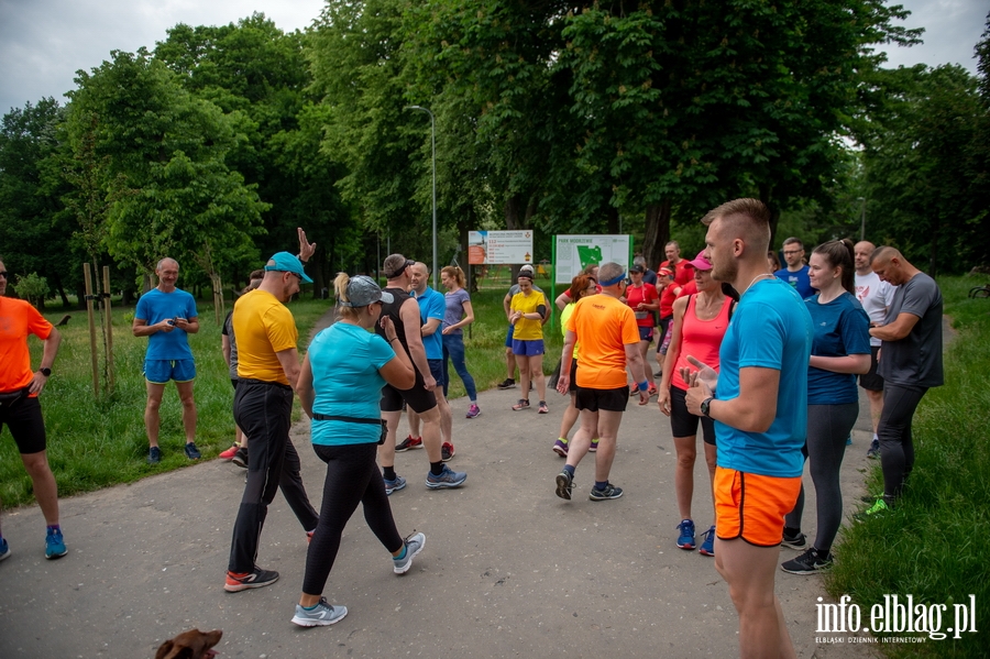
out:
<path id="1" fill-rule="evenodd" d="M 520 272 L 517 279 L 519 293 L 509 304 L 509 322 L 513 326 L 513 354 L 522 381 L 522 397 L 513 405 L 520 410 L 529 407 L 529 387 L 536 381 L 540 395 L 540 414 L 548 414 L 547 378 L 543 376 L 543 317 L 548 314 L 547 298 L 532 288 L 532 273 Z"/>

